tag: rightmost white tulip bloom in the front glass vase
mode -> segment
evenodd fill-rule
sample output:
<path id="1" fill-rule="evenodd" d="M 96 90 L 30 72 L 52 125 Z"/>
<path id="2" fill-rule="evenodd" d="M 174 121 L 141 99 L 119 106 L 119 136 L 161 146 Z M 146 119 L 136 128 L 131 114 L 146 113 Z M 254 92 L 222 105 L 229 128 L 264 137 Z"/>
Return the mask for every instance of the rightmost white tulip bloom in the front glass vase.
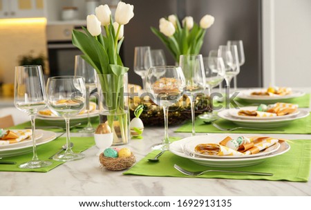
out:
<path id="1" fill-rule="evenodd" d="M 129 23 L 130 19 L 134 17 L 133 10 L 133 5 L 120 1 L 117 3 L 117 9 L 115 10 L 115 21 L 120 25 Z"/>

